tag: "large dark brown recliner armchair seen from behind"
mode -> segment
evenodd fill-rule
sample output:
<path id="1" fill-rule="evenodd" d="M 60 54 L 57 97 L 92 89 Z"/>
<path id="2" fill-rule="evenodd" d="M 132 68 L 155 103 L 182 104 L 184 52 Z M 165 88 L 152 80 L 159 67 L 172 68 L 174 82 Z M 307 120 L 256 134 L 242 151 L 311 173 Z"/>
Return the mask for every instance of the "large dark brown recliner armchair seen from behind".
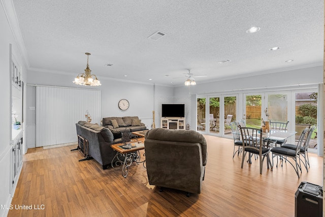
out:
<path id="1" fill-rule="evenodd" d="M 205 138 L 192 130 L 152 129 L 145 135 L 149 184 L 200 194 L 207 164 Z"/>

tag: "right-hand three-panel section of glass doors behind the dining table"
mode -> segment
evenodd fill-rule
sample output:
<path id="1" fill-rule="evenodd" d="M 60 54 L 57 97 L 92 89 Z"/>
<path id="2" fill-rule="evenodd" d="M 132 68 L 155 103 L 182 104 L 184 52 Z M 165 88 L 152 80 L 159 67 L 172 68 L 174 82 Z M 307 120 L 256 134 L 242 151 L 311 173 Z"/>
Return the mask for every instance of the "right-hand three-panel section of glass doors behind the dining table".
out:
<path id="1" fill-rule="evenodd" d="M 297 132 L 288 139 L 291 144 L 295 144 L 306 127 L 317 125 L 317 89 L 248 93 L 243 98 L 243 119 L 247 127 L 261 127 L 262 118 L 289 121 L 288 130 Z M 311 136 L 308 151 L 317 152 L 317 129 Z"/>

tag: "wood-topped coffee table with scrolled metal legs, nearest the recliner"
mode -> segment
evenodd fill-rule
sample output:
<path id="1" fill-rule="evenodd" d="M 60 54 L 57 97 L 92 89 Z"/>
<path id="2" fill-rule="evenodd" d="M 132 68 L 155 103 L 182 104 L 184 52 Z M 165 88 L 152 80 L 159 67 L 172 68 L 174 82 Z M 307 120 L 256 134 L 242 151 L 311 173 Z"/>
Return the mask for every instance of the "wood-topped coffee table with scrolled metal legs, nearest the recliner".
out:
<path id="1" fill-rule="evenodd" d="M 143 167 L 145 167 L 145 161 L 141 161 L 140 150 L 144 149 L 144 138 L 139 138 L 135 141 L 128 142 L 132 145 L 131 148 L 123 148 L 123 143 L 113 144 L 111 147 L 117 151 L 113 160 L 112 167 L 116 170 L 122 168 L 122 175 L 126 178 L 128 173 L 128 167 L 131 166 L 132 162 L 136 162 L 137 164 L 143 163 Z M 114 162 L 114 160 L 117 160 Z M 115 165 L 115 167 L 114 167 Z"/>

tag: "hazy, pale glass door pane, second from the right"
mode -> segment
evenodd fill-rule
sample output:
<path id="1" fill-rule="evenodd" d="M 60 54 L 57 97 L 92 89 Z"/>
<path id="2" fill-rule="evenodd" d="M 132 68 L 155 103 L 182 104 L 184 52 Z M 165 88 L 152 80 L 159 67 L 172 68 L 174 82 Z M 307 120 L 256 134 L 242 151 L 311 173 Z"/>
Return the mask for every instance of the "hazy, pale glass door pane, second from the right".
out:
<path id="1" fill-rule="evenodd" d="M 286 122 L 288 120 L 287 94 L 268 95 L 268 114 L 269 116 L 266 116 L 266 121 Z"/>

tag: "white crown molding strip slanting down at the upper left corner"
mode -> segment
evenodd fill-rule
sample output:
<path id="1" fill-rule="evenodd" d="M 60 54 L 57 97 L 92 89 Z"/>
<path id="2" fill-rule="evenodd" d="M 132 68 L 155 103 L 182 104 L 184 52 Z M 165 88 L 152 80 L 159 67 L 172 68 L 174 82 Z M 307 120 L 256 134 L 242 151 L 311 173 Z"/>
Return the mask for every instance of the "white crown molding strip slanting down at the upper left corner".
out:
<path id="1" fill-rule="evenodd" d="M 18 46 L 18 50 L 22 56 L 22 59 L 25 63 L 26 68 L 29 68 L 29 62 L 27 58 L 26 47 L 22 39 L 22 35 L 19 28 L 19 23 L 16 15 L 16 10 L 12 0 L 0 0 L 2 7 L 4 8 L 12 35 Z"/>

